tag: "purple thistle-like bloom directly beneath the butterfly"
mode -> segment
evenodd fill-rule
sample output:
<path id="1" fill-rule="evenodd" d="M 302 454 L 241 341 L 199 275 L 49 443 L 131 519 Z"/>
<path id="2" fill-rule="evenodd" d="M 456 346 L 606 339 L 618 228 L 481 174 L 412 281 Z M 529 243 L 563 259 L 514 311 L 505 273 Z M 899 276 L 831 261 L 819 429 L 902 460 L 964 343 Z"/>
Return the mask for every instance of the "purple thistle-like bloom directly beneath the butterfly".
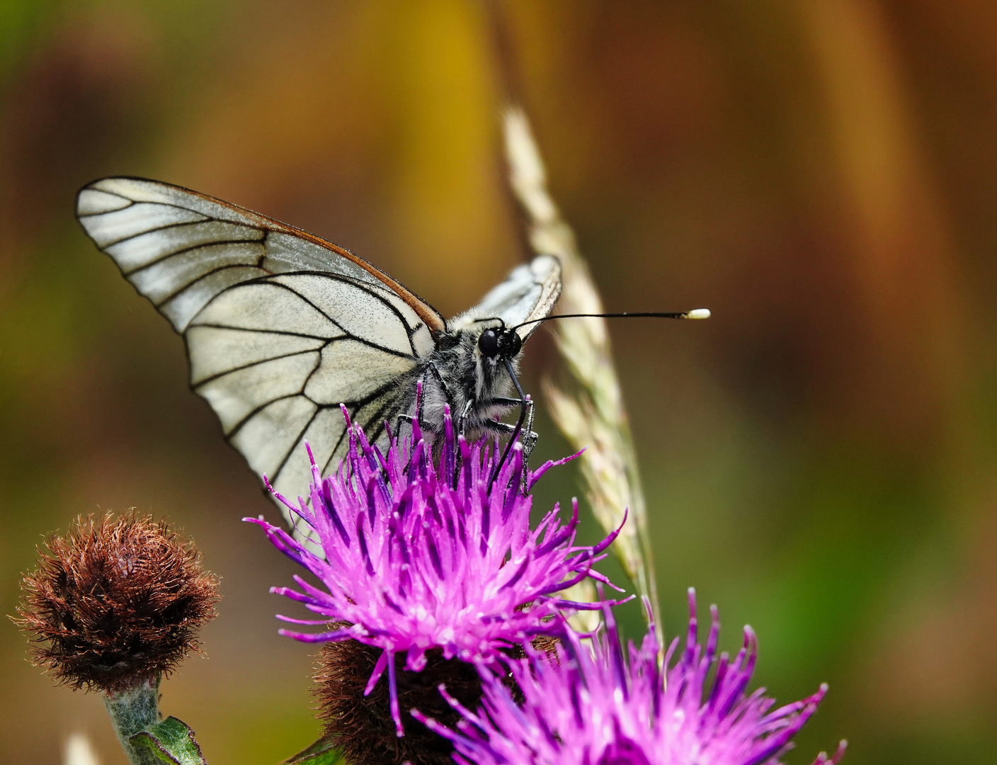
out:
<path id="1" fill-rule="evenodd" d="M 281 634 L 309 642 L 354 639 L 383 649 L 365 695 L 387 669 L 391 714 L 401 736 L 396 653 L 405 651 L 406 667 L 417 672 L 434 648 L 441 648 L 446 659 L 488 664 L 503 650 L 555 628 L 551 617 L 559 608 L 600 607 L 555 593 L 587 576 L 609 583 L 591 567 L 605 558 L 616 534 L 595 547 L 574 547 L 575 501 L 566 525 L 555 505 L 535 529 L 529 528 L 532 498 L 520 493 L 520 486 L 528 490 L 549 468 L 571 458 L 529 471 L 522 446 L 515 443 L 493 482 L 498 445 L 469 445 L 455 438 L 449 411 L 439 458 L 417 424 L 412 439 L 392 439 L 385 458 L 350 422 L 345 408 L 343 416 L 349 453 L 326 478 L 312 460 L 310 508 L 301 498 L 294 505 L 275 493 L 317 538 L 324 560 L 262 518 L 244 520 L 263 527 L 278 550 L 324 585 L 295 575 L 300 590 L 271 588 L 323 617 L 278 618 L 340 625 L 317 633 L 282 629 Z"/>

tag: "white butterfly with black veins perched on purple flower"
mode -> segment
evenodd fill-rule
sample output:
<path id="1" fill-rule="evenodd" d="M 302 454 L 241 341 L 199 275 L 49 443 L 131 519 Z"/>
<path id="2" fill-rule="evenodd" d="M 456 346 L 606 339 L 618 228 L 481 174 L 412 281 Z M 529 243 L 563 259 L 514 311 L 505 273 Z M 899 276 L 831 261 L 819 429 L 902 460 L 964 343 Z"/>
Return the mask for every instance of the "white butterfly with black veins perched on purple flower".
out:
<path id="1" fill-rule="evenodd" d="M 190 387 L 280 494 L 306 494 L 306 442 L 323 474 L 335 469 L 349 446 L 340 405 L 382 446 L 386 423 L 414 418 L 432 438 L 448 406 L 469 437 L 514 438 L 522 424 L 525 406 L 516 428 L 498 418 L 526 399 L 516 362 L 560 295 L 553 256 L 446 320 L 350 250 L 197 191 L 107 178 L 79 192 L 76 212 L 183 337 Z"/>

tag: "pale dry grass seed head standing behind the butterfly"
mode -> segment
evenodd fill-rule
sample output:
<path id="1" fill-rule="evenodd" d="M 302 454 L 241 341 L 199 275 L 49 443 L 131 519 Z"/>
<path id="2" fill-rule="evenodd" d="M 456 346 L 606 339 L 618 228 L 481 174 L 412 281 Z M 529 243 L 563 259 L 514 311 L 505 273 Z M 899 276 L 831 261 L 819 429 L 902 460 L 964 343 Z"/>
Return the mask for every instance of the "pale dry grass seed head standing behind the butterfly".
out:
<path id="1" fill-rule="evenodd" d="M 547 192 L 526 115 L 521 109 L 507 108 L 503 127 L 509 183 L 526 213 L 530 246 L 537 254 L 560 258 L 563 291 L 557 312 L 601 313 L 602 301 L 578 253 L 574 233 Z M 602 527 L 616 529 L 628 510 L 613 550 L 640 594 L 650 597 L 655 619 L 661 623 L 644 495 L 605 319 L 571 319 L 550 326 L 567 371 L 563 383 L 544 382 L 551 417 L 572 446 L 587 448 L 581 460 L 585 495 Z"/>

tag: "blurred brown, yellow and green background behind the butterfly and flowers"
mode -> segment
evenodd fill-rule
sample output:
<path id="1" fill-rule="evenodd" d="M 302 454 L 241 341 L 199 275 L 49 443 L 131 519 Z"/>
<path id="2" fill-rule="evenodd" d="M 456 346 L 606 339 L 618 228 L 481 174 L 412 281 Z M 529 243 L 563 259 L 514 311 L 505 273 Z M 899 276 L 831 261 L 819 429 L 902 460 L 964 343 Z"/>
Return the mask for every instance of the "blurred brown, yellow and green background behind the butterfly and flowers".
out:
<path id="1" fill-rule="evenodd" d="M 519 0 L 510 18 L 607 308 L 714 311 L 612 325 L 665 630 L 695 585 L 724 646 L 758 631 L 780 699 L 830 682 L 788 763 L 842 736 L 851 765 L 994 762 L 997 6 Z M 163 709 L 212 765 L 277 762 L 318 726 L 308 648 L 275 634 L 266 593 L 291 565 L 238 520 L 273 509 L 74 194 L 115 174 L 205 191 L 455 313 L 521 257 L 487 17 L 4 0 L 0 70 L 0 610 L 76 514 L 166 515 L 224 599 Z M 543 334 L 534 391 L 556 373 Z M 563 453 L 541 427 L 543 456 Z M 55 687 L 0 620 L 0 761 L 58 762 L 78 730 L 125 762 L 99 698 Z"/>

